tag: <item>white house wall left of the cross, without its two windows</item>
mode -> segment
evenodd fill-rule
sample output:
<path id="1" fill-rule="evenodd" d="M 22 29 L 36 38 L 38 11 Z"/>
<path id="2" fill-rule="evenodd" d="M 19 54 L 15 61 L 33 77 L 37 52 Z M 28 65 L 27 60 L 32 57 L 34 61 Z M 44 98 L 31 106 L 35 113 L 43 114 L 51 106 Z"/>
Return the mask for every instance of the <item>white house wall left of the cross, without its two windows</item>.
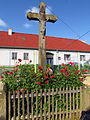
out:
<path id="1" fill-rule="evenodd" d="M 12 60 L 12 52 L 17 52 L 17 60 Z M 24 53 L 29 53 L 28 60 L 23 59 Z M 37 51 L 36 51 L 36 54 L 37 54 Z M 16 65 L 18 64 L 18 59 L 22 59 L 22 64 L 29 63 L 30 60 L 32 60 L 32 64 L 34 64 L 35 63 L 35 51 L 27 50 L 27 49 L 0 49 L 0 66 Z M 37 60 L 38 58 L 36 58 L 36 62 L 38 63 Z"/>

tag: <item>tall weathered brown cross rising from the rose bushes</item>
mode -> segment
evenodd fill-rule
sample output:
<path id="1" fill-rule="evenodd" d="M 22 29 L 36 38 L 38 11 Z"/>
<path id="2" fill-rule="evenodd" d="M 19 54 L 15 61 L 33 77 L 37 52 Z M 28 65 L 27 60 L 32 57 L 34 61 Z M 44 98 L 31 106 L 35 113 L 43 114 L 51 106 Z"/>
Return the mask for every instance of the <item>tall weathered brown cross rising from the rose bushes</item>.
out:
<path id="1" fill-rule="evenodd" d="M 55 15 L 45 14 L 46 4 L 41 2 L 39 5 L 39 13 L 27 13 L 29 20 L 39 21 L 39 55 L 38 65 L 42 66 L 43 70 L 46 70 L 46 22 L 56 22 L 57 17 Z"/>

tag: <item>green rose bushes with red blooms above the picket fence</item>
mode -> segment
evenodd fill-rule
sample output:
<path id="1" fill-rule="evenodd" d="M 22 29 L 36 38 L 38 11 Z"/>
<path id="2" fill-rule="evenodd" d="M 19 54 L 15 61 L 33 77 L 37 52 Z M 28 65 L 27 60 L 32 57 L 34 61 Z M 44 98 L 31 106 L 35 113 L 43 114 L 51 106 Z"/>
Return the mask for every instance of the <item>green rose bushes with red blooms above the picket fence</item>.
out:
<path id="1" fill-rule="evenodd" d="M 12 70 L 5 71 L 2 81 L 6 84 L 8 90 L 79 87 L 83 85 L 85 78 L 82 72 L 73 63 L 62 64 L 60 70 L 54 72 L 49 66 L 47 66 L 46 71 L 38 66 L 36 73 L 33 65 L 20 64 Z"/>

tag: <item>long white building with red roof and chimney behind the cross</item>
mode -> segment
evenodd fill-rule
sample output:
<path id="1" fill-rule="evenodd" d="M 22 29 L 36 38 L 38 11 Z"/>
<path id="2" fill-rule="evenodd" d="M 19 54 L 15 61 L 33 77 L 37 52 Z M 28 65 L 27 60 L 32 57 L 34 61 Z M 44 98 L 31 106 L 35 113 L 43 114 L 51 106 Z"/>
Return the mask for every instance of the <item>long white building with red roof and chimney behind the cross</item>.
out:
<path id="1" fill-rule="evenodd" d="M 90 59 L 90 45 L 75 39 L 46 37 L 47 63 L 85 63 Z M 32 60 L 38 64 L 38 35 L 0 31 L 0 65 L 15 65 Z"/>

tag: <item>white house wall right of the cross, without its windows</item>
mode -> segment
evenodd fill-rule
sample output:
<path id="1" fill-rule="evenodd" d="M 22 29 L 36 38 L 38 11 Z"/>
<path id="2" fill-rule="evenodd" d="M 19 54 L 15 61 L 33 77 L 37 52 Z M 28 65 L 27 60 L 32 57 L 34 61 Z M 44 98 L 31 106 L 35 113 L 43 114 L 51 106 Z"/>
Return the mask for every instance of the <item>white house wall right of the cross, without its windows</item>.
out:
<path id="1" fill-rule="evenodd" d="M 62 63 L 75 62 L 79 64 L 84 64 L 87 60 L 90 59 L 90 53 L 85 52 L 68 52 L 68 51 L 48 51 L 53 53 L 54 65 L 59 65 Z M 70 55 L 70 60 L 64 60 L 64 55 Z M 85 61 L 80 61 L 80 55 L 85 55 Z"/>

